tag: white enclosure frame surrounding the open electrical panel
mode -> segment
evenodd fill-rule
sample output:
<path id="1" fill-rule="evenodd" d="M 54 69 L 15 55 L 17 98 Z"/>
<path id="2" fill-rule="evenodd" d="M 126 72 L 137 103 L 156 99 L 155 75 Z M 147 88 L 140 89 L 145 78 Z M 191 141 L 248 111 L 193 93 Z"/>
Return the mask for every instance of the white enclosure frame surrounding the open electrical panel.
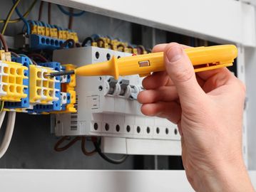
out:
<path id="1" fill-rule="evenodd" d="M 240 51 L 237 59 L 238 77 L 244 82 L 248 79 L 245 75 L 245 51 L 250 50 L 253 55 L 256 53 L 255 6 L 252 4 L 235 0 L 46 1 L 208 41 L 235 43 Z M 252 56 L 252 59 L 250 65 L 256 65 L 256 56 Z M 250 92 L 248 97 L 250 100 Z M 252 163 L 256 160 L 256 152 L 253 150 L 255 142 L 247 142 L 247 134 L 250 134 L 246 134 L 250 130 L 247 122 L 256 122 L 247 117 L 245 112 L 244 151 L 246 161 L 249 151 L 250 169 L 255 167 Z M 247 143 L 250 145 L 247 146 Z M 250 171 L 250 176 L 255 185 L 256 171 Z M 193 191 L 184 171 L 1 169 L 0 186 L 3 187 L 1 191 Z"/>

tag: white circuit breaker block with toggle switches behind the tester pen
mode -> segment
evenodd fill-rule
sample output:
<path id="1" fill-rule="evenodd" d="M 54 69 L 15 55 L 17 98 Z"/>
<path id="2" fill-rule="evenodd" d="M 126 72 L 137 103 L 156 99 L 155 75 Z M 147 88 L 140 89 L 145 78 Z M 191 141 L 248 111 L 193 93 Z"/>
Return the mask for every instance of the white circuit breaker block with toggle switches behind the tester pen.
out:
<path id="1" fill-rule="evenodd" d="M 81 66 L 91 63 L 130 56 L 130 53 L 118 52 L 93 46 L 54 50 L 53 60 L 60 63 L 73 63 Z M 163 141 L 179 141 L 177 126 L 167 119 L 145 117 L 140 112 L 140 104 L 136 100 L 138 92 L 143 90 L 142 78 L 130 75 L 114 80 L 111 76 L 77 77 L 76 107 L 77 112 L 56 114 L 55 134 L 57 136 L 101 136 L 105 151 L 116 153 L 108 145 L 108 138 L 115 139 L 124 149 L 129 139 L 151 140 L 166 145 Z M 123 143 L 123 144 L 121 144 Z M 150 146 L 150 145 L 149 145 Z M 137 147 L 134 145 L 134 147 Z M 156 154 L 155 148 L 147 154 Z M 130 150 L 133 151 L 133 150 Z M 123 151 L 129 153 L 128 151 Z M 173 154 L 172 150 L 162 154 Z M 130 154 L 133 154 L 130 152 Z M 180 154 L 175 151 L 175 154 Z"/>

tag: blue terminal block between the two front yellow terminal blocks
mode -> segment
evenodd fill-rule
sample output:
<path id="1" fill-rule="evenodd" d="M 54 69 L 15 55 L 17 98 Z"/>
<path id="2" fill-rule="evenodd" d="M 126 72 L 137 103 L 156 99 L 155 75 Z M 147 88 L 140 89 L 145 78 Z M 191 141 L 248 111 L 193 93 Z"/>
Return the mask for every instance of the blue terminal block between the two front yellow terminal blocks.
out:
<path id="1" fill-rule="evenodd" d="M 17 57 L 12 58 L 13 62 L 21 63 L 28 70 L 24 70 L 24 75 L 29 77 L 29 58 L 27 57 Z M 29 78 L 23 80 L 23 85 L 28 87 L 24 87 L 24 93 L 27 95 L 25 98 L 21 98 L 21 102 L 4 102 L 4 108 L 6 109 L 16 109 L 16 108 L 27 108 L 29 107 Z"/>

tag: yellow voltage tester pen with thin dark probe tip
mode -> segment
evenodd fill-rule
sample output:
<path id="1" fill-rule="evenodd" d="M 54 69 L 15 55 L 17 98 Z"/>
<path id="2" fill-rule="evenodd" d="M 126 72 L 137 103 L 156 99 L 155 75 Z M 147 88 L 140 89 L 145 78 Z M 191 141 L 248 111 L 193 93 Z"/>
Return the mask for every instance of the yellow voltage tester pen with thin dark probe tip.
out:
<path id="1" fill-rule="evenodd" d="M 233 45 L 186 48 L 185 53 L 188 54 L 195 72 L 200 72 L 231 66 L 237 57 L 237 48 Z M 111 75 L 117 80 L 119 75 L 138 74 L 143 77 L 150 75 L 152 72 L 163 70 L 165 70 L 163 52 L 159 52 L 123 58 L 113 56 L 111 60 L 106 62 L 84 65 L 74 71 L 50 73 L 47 76 L 53 77 L 74 73 L 81 76 Z"/>

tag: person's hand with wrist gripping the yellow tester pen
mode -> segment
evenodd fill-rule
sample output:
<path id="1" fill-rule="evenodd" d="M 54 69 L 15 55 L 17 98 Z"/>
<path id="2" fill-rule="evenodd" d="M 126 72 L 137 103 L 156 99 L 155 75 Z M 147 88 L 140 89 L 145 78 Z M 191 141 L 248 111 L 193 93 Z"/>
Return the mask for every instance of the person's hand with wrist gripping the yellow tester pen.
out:
<path id="1" fill-rule="evenodd" d="M 242 159 L 245 85 L 227 68 L 195 75 L 183 48 L 153 48 L 164 51 L 166 71 L 143 80 L 141 111 L 178 124 L 183 166 L 195 191 L 253 191 Z"/>

